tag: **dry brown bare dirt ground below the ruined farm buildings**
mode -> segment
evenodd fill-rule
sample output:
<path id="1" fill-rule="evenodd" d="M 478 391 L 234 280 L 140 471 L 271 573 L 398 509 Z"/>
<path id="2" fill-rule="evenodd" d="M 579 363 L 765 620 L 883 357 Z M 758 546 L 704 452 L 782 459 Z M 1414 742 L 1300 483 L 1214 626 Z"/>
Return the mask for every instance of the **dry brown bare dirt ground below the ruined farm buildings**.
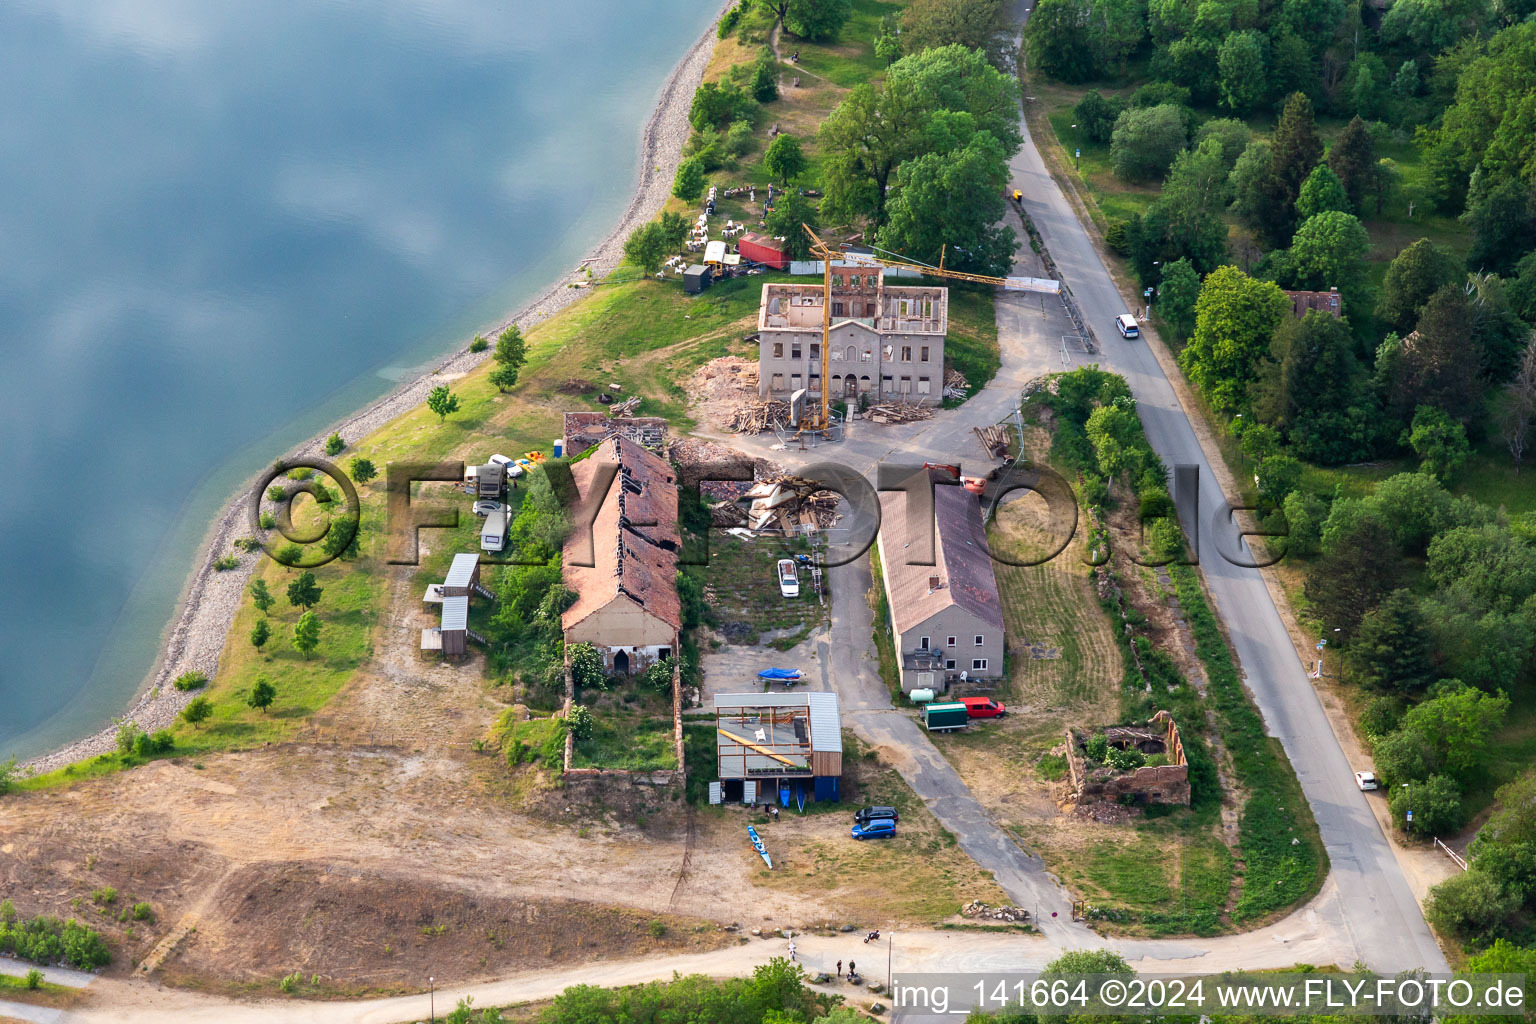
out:
<path id="1" fill-rule="evenodd" d="M 479 657 L 419 660 L 424 613 L 398 573 L 375 659 L 298 742 L 6 797 L 0 895 L 103 929 L 117 975 L 190 926 L 157 976 L 250 993 L 292 972 L 303 992 L 339 995 L 682 952 L 734 941 L 716 927 L 730 921 L 934 920 L 863 872 L 840 889 L 800 884 L 806 851 L 851 843 L 843 814 L 776 824 L 796 878 L 765 878 L 739 811 L 702 815 L 690 855 L 680 800 L 628 783 L 576 794 L 476 752 L 507 691 L 487 686 Z M 911 840 L 943 841 L 937 829 Z M 685 855 L 693 869 L 679 881 Z M 975 878 L 955 875 L 937 917 L 985 889 L 960 861 Z M 91 894 L 108 886 L 118 897 L 100 907 Z M 137 901 L 155 921 L 117 920 Z"/>

